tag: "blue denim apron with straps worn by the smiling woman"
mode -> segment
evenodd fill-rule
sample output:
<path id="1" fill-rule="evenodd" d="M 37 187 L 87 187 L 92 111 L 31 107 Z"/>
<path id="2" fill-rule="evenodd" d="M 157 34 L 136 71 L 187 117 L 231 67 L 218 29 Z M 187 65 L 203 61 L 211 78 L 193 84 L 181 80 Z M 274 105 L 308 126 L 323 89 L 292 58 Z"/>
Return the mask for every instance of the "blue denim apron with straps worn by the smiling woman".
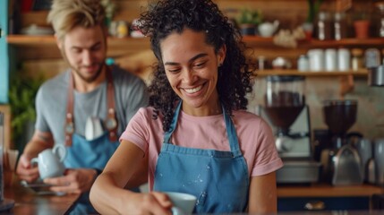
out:
<path id="1" fill-rule="evenodd" d="M 245 211 L 248 205 L 249 174 L 232 120 L 223 108 L 231 151 L 177 146 L 169 141 L 177 125 L 181 103 L 175 109 L 171 129 L 165 133 L 158 155 L 154 191 L 195 195 L 195 213 Z"/>

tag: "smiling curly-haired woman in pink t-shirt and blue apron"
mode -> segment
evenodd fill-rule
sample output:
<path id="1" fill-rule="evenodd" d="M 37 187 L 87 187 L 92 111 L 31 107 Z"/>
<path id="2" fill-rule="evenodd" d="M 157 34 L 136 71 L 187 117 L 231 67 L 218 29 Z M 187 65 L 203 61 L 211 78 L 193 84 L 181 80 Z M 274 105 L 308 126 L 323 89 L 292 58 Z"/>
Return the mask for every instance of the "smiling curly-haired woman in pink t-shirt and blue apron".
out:
<path id="1" fill-rule="evenodd" d="M 166 214 L 173 206 L 166 192 L 177 192 L 199 200 L 195 213 L 276 212 L 283 164 L 267 123 L 245 111 L 252 70 L 240 32 L 209 0 L 159 1 L 140 22 L 158 58 L 150 107 L 121 136 L 92 186 L 93 205 L 101 213 Z M 138 163 L 149 170 L 149 193 L 123 189 Z"/>

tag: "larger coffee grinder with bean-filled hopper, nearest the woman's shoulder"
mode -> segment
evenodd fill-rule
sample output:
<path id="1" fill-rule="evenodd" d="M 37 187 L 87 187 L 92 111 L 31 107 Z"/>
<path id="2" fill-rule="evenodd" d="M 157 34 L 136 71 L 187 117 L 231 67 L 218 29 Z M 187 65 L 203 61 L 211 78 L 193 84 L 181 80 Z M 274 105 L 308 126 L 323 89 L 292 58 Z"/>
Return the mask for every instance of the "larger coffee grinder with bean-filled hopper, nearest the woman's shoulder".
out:
<path id="1" fill-rule="evenodd" d="M 267 76 L 264 106 L 259 115 L 272 127 L 284 167 L 277 170 L 278 184 L 313 183 L 320 163 L 312 159 L 309 107 L 305 105 L 305 78 L 299 75 Z"/>

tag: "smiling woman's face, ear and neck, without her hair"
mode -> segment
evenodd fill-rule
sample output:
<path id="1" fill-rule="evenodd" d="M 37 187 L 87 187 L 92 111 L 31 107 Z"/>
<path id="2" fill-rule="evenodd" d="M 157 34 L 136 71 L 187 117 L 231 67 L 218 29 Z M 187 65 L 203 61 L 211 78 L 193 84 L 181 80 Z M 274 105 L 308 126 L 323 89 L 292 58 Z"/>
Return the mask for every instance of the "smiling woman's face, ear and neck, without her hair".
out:
<path id="1" fill-rule="evenodd" d="M 221 114 L 217 70 L 224 62 L 226 47 L 215 53 L 214 47 L 206 45 L 205 33 L 188 29 L 170 35 L 161 47 L 166 78 L 183 100 L 183 112 L 192 116 Z"/>

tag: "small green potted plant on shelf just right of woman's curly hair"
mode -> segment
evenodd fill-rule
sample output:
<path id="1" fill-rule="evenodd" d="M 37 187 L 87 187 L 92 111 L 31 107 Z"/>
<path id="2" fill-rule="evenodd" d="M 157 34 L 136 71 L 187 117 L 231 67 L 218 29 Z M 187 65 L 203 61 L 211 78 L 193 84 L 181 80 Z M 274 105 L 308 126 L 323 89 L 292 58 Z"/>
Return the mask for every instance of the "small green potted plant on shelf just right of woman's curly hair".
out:
<path id="1" fill-rule="evenodd" d="M 244 8 L 237 17 L 240 31 L 243 35 L 255 35 L 256 27 L 260 24 L 262 15 L 260 11 Z"/>

